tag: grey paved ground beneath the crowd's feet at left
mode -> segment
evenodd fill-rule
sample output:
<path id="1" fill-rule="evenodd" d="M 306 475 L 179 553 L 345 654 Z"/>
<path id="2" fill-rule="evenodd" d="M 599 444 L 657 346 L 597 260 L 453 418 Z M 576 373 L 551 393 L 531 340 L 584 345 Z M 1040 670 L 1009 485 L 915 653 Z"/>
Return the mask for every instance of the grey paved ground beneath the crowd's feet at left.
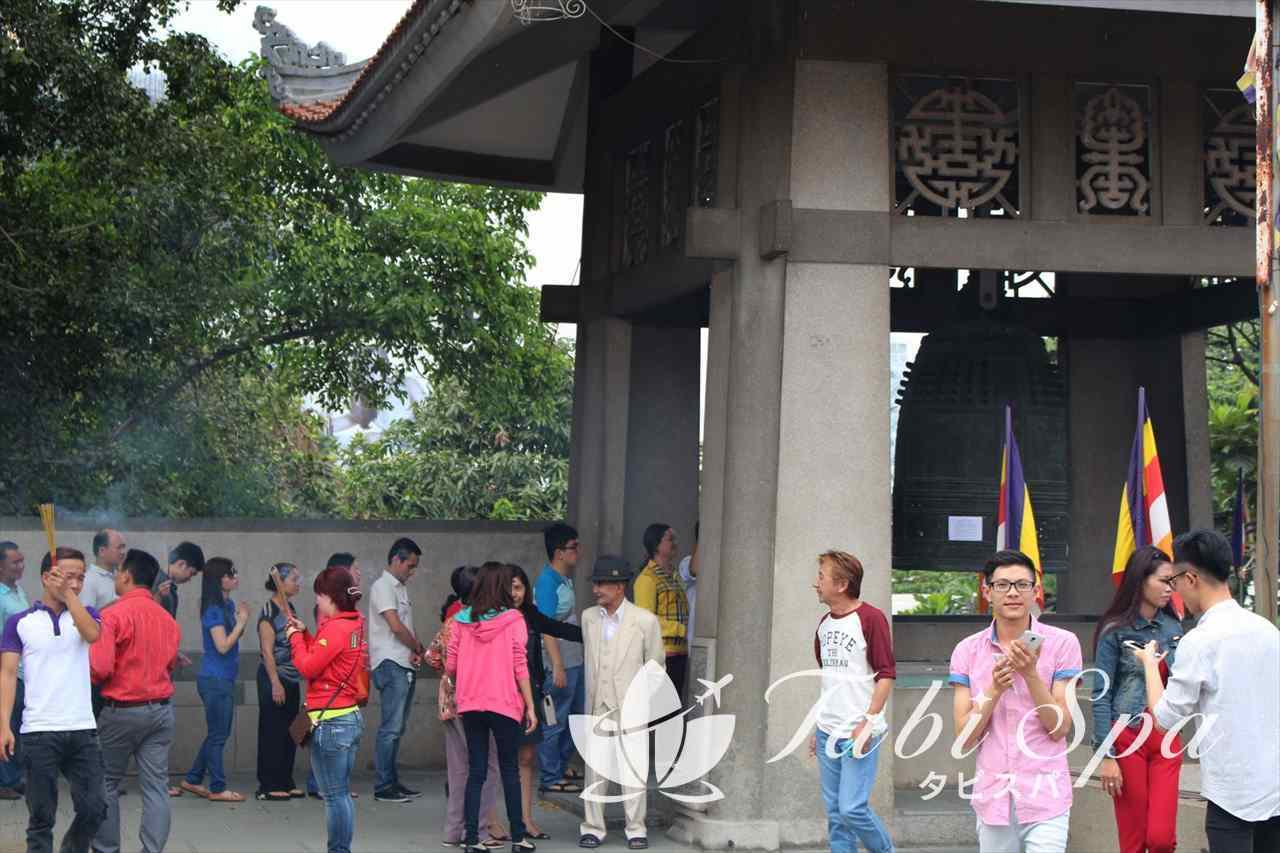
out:
<path id="1" fill-rule="evenodd" d="M 444 850 L 440 829 L 444 822 L 444 776 L 422 774 L 407 776 L 406 784 L 426 792 L 416 803 L 378 803 L 367 780 L 357 780 L 361 794 L 356 802 L 356 840 L 353 853 L 430 853 Z M 237 777 L 232 788 L 243 794 L 253 790 L 251 779 Z M 260 803 L 248 800 L 228 806 L 209 803 L 192 795 L 173 800 L 174 822 L 169 847 L 174 853 L 324 853 L 324 804 L 312 799 L 287 803 Z M 137 784 L 129 786 L 129 795 L 122 800 L 124 852 L 140 849 Z M 70 798 L 65 788 L 59 798 L 58 836 L 70 820 Z M 539 850 L 549 853 L 577 852 L 577 816 L 556 806 L 538 806 L 538 820 L 552 835 L 550 841 L 539 841 Z M 20 853 L 26 849 L 24 831 L 27 807 L 22 802 L 0 803 L 0 853 Z M 650 849 L 655 853 L 686 852 L 696 848 L 667 839 L 660 830 L 650 833 Z M 500 848 L 506 853 L 509 848 Z M 626 850 L 621 834 L 611 835 L 602 848 L 604 853 Z M 900 850 L 900 853 L 909 853 Z M 965 850 L 931 849 L 929 853 L 966 853 Z"/>

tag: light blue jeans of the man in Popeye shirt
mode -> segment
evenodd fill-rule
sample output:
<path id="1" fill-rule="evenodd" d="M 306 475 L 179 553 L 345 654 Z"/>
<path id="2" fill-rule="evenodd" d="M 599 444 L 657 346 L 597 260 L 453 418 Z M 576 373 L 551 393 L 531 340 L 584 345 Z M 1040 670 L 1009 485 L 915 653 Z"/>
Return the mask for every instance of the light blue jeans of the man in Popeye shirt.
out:
<path id="1" fill-rule="evenodd" d="M 827 734 L 818 730 L 818 771 L 822 779 L 822 800 L 827 806 L 827 843 L 831 853 L 858 853 L 858 841 L 870 853 L 893 853 L 893 840 L 884 831 L 876 812 L 868 806 L 876 784 L 876 765 L 884 745 L 882 736 L 861 758 L 847 751 L 849 739 L 840 738 L 827 754 Z"/>

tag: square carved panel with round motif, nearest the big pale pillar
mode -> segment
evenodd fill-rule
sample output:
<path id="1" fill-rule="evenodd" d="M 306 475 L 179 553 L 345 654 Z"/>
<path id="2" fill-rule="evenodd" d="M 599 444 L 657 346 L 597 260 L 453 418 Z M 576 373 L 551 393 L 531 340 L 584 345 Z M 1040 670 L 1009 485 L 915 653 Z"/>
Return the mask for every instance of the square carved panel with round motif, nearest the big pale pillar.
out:
<path id="1" fill-rule="evenodd" d="M 1016 81 L 896 77 L 895 211 L 1021 215 L 1020 114 Z"/>

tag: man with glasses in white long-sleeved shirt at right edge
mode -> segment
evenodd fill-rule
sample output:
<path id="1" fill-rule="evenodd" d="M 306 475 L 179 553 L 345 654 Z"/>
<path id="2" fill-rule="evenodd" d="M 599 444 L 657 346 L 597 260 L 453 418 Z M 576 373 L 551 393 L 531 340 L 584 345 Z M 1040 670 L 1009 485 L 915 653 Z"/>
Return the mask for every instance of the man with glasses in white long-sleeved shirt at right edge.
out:
<path id="1" fill-rule="evenodd" d="M 1270 853 L 1280 850 L 1280 631 L 1231 598 L 1230 575 L 1231 547 L 1220 534 L 1174 539 L 1170 580 L 1199 621 L 1178 644 L 1167 686 L 1156 646 L 1134 653 L 1160 729 L 1193 713 L 1208 726 L 1199 758 L 1211 853 Z"/>

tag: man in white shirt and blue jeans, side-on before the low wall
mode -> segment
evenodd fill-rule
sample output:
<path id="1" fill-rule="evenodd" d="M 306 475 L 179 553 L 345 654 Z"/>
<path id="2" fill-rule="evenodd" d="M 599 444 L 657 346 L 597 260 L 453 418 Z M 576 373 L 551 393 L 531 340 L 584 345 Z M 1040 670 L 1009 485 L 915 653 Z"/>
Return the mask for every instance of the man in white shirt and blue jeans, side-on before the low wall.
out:
<path id="1" fill-rule="evenodd" d="M 413 633 L 413 605 L 407 587 L 421 556 L 416 542 L 397 539 L 387 553 L 387 571 L 369 590 L 369 665 L 383 708 L 374 749 L 378 770 L 374 799 L 383 803 L 407 803 L 422 795 L 401 784 L 396 767 L 413 704 L 415 670 L 425 651 Z"/>

